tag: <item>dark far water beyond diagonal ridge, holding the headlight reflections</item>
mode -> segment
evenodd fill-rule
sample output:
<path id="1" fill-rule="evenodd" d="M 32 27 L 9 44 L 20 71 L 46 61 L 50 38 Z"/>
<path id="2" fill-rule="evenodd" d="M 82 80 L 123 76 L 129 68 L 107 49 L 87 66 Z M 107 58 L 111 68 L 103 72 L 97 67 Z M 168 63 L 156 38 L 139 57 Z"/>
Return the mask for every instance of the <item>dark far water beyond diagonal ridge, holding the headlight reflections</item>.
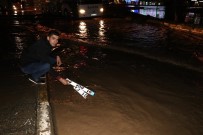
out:
<path id="1" fill-rule="evenodd" d="M 203 52 L 202 35 L 127 19 L 47 20 L 41 24 L 60 30 L 63 39 L 71 38 L 90 46 L 121 50 L 185 68 L 196 66 L 194 70 L 201 65 L 194 58 L 194 52 Z M 43 27 L 41 29 L 43 31 Z"/>

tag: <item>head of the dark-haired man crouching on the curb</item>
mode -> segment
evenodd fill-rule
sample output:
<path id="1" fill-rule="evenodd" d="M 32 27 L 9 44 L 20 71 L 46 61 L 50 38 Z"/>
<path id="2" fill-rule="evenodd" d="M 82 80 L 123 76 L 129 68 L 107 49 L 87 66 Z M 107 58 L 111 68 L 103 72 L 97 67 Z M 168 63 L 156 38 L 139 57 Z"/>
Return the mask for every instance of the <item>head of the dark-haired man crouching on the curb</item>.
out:
<path id="1" fill-rule="evenodd" d="M 56 30 L 49 31 L 47 35 L 47 40 L 52 47 L 56 47 L 58 40 L 59 40 L 60 33 Z"/>

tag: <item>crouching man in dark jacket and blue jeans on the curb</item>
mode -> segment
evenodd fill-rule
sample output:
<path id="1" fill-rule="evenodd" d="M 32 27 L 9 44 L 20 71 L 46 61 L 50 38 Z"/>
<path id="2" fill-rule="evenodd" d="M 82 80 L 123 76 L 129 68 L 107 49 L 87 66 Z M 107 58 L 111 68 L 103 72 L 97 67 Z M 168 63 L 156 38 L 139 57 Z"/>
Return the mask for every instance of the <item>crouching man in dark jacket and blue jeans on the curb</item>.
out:
<path id="1" fill-rule="evenodd" d="M 52 56 L 52 48 L 57 46 L 60 33 L 51 30 L 46 39 L 38 40 L 31 45 L 28 50 L 23 53 L 21 58 L 21 70 L 28 74 L 29 80 L 35 84 L 45 84 L 42 76 L 49 72 L 53 77 L 64 85 L 68 85 L 68 81 L 59 76 L 52 67 L 62 64 L 59 56 Z"/>

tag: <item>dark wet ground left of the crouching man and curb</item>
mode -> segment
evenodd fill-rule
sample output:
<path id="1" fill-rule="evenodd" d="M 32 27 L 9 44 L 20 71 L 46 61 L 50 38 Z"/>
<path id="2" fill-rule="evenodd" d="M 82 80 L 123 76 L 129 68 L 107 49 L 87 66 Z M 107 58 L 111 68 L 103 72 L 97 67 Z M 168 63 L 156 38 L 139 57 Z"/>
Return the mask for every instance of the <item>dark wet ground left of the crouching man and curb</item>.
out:
<path id="1" fill-rule="evenodd" d="M 36 133 L 37 89 L 22 74 L 18 62 L 22 50 L 35 40 L 26 26 L 31 20 L 0 21 L 0 134 L 34 135 Z"/>

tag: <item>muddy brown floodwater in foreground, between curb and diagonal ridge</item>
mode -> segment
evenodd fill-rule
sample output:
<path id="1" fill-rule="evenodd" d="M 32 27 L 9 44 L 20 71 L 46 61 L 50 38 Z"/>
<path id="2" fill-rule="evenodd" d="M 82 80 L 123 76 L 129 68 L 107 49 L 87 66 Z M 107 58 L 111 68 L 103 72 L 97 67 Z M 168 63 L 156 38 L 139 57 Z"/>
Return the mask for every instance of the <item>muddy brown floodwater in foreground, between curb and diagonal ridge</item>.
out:
<path id="1" fill-rule="evenodd" d="M 94 97 L 85 100 L 71 86 L 50 81 L 59 135 L 202 134 L 201 75 L 121 52 L 105 54 L 106 63 L 90 58 L 66 74 L 94 90 Z"/>

